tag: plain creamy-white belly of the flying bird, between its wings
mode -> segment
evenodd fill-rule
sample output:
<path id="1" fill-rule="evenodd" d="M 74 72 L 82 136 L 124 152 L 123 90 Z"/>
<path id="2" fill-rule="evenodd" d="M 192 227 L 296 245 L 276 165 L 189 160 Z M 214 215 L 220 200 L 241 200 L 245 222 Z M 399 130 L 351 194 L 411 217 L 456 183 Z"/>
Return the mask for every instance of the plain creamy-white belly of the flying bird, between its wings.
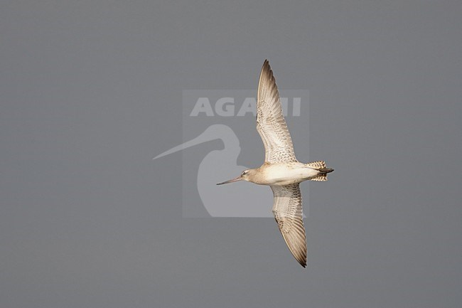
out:
<path id="1" fill-rule="evenodd" d="M 300 166 L 272 166 L 265 172 L 266 185 L 285 186 L 300 183 L 316 176 L 319 171 L 307 167 L 305 164 Z"/>

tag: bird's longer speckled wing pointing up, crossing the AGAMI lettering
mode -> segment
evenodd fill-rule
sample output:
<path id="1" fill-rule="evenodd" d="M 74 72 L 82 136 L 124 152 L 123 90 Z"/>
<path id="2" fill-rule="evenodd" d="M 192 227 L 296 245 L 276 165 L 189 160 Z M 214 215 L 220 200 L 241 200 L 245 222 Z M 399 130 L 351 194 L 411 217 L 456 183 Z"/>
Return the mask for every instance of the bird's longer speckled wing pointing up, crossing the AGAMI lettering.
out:
<path id="1" fill-rule="evenodd" d="M 289 129 L 282 114 L 276 80 L 268 60 L 264 60 L 258 85 L 257 131 L 264 144 L 265 161 L 297 161 Z"/>

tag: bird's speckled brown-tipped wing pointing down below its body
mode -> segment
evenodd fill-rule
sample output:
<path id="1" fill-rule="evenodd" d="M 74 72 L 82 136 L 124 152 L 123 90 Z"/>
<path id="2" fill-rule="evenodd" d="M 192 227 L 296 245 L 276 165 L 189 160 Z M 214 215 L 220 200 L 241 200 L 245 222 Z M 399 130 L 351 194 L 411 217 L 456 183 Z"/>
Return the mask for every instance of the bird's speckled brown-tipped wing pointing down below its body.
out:
<path id="1" fill-rule="evenodd" d="M 274 194 L 273 214 L 282 237 L 292 255 L 301 266 L 306 267 L 306 236 L 299 184 L 271 188 Z"/>

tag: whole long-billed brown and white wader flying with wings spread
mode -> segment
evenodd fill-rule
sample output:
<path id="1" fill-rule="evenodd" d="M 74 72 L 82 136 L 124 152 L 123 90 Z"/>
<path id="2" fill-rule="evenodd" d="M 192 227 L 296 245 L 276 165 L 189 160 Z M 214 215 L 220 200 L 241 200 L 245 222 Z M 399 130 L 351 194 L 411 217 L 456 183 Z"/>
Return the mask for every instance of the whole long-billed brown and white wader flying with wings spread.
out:
<path id="1" fill-rule="evenodd" d="M 257 97 L 257 132 L 265 149 L 264 164 L 242 171 L 240 176 L 217 185 L 249 181 L 268 185 L 273 191 L 273 214 L 289 250 L 301 266 L 306 267 L 306 235 L 303 226 L 302 181 L 327 181 L 324 161 L 303 164 L 295 157 L 292 139 L 282 114 L 281 100 L 268 60 L 260 73 Z"/>

